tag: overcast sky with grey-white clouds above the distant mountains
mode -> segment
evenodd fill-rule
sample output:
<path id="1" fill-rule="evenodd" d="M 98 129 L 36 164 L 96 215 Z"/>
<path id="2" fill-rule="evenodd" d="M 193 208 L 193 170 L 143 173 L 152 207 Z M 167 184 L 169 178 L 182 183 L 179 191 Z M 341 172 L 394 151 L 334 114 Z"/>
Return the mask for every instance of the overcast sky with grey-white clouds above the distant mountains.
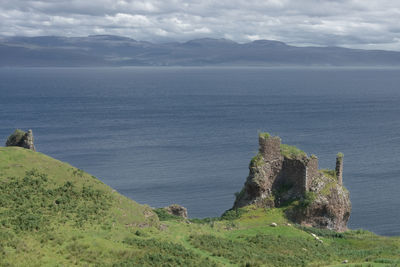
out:
<path id="1" fill-rule="evenodd" d="M 0 35 L 91 34 L 400 50 L 400 1 L 0 0 Z"/>

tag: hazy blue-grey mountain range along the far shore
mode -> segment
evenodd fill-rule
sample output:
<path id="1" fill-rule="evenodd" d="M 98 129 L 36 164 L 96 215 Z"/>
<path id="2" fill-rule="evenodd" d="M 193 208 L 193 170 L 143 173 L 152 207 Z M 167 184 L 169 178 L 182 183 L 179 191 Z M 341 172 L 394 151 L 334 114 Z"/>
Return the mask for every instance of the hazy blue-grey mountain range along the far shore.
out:
<path id="1" fill-rule="evenodd" d="M 400 66 L 400 52 L 239 44 L 196 39 L 155 44 L 113 35 L 2 37 L 0 66 Z"/>

